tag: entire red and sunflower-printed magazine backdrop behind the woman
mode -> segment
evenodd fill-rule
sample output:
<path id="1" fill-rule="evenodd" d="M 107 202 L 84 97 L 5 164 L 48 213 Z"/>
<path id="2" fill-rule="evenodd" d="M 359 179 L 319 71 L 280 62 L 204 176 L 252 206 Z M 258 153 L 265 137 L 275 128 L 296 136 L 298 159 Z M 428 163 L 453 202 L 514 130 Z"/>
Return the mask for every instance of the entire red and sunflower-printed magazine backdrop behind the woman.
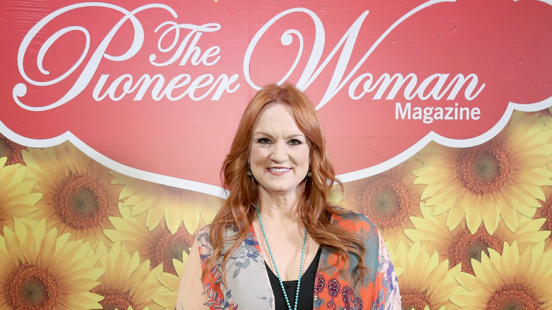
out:
<path id="1" fill-rule="evenodd" d="M 241 113 L 283 81 L 403 309 L 552 309 L 552 1 L 0 10 L 1 309 L 173 309 Z"/>

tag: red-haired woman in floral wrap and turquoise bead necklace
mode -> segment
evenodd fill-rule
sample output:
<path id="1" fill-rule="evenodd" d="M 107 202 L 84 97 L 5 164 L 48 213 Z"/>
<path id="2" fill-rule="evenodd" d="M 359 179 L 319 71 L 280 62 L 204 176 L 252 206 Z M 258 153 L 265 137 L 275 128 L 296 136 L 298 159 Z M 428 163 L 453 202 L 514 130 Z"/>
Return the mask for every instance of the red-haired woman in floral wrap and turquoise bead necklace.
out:
<path id="1" fill-rule="evenodd" d="M 376 226 L 326 200 L 340 183 L 304 93 L 261 89 L 221 174 L 230 194 L 197 235 L 177 309 L 401 309 Z"/>

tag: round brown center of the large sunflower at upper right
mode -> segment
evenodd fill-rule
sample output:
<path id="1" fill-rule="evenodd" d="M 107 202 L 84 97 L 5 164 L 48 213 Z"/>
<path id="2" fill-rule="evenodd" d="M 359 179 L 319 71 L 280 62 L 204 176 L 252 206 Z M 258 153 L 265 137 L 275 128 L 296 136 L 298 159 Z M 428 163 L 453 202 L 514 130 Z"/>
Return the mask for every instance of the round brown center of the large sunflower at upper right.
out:
<path id="1" fill-rule="evenodd" d="M 471 147 L 456 161 L 456 177 L 476 194 L 500 190 L 511 170 L 510 155 L 493 142 Z"/>

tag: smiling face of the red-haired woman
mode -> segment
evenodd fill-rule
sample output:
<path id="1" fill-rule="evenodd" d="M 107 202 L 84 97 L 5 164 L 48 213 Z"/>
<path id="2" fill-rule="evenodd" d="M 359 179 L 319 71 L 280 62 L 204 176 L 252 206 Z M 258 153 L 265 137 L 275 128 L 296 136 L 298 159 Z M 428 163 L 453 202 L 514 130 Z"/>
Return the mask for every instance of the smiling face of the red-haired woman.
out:
<path id="1" fill-rule="evenodd" d="M 310 142 L 299 130 L 292 108 L 269 103 L 253 123 L 249 163 L 260 191 L 269 195 L 296 193 L 309 171 Z"/>

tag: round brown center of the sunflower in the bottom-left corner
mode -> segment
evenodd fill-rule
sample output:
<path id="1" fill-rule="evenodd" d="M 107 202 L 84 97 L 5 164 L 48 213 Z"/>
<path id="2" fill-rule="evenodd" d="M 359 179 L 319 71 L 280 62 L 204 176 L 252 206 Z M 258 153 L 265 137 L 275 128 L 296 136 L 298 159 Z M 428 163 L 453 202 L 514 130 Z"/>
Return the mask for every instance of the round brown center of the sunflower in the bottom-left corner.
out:
<path id="1" fill-rule="evenodd" d="M 48 270 L 38 265 L 21 264 L 6 277 L 4 296 L 12 309 L 54 309 L 59 289 Z"/>

